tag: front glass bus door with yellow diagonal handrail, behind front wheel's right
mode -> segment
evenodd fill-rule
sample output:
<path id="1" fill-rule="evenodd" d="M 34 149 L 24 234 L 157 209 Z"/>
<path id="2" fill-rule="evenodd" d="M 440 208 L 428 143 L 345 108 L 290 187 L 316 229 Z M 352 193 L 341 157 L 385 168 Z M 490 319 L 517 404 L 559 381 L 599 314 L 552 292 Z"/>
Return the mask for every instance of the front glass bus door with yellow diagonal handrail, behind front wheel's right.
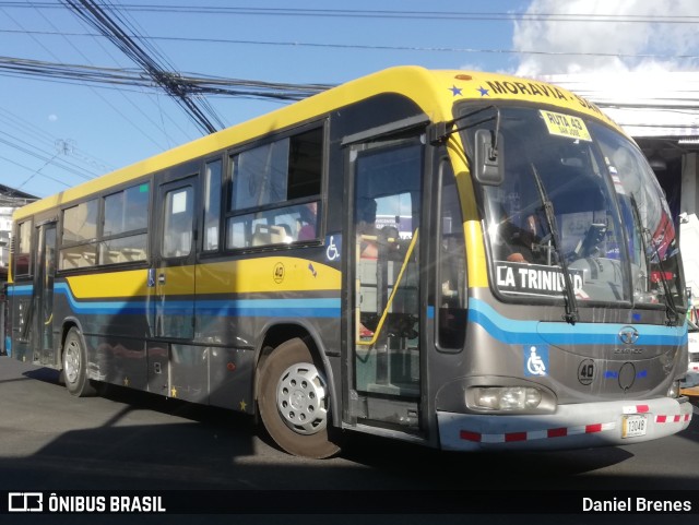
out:
<path id="1" fill-rule="evenodd" d="M 357 422 L 380 421 L 408 432 L 419 429 L 424 375 L 418 271 L 423 151 L 419 136 L 350 150 L 356 239 L 350 411 Z"/>

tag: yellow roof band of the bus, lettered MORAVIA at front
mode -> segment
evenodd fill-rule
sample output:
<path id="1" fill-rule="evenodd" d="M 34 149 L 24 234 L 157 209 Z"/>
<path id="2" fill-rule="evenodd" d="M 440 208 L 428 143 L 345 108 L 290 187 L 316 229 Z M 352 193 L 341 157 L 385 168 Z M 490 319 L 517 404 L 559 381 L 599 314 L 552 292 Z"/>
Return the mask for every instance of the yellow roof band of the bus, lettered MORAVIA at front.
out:
<path id="1" fill-rule="evenodd" d="M 333 109 L 381 93 L 395 93 L 411 98 L 429 116 L 433 122 L 452 119 L 453 105 L 462 100 L 520 100 L 587 114 L 620 131 L 618 126 L 592 103 L 545 82 L 476 71 L 436 71 L 413 65 L 396 67 L 347 82 L 47 196 L 17 210 L 14 218 L 21 219 L 45 210 L 68 204 L 142 176 L 225 150 L 233 144 L 245 143 L 269 134 L 271 131 L 283 130 L 312 120 Z"/>

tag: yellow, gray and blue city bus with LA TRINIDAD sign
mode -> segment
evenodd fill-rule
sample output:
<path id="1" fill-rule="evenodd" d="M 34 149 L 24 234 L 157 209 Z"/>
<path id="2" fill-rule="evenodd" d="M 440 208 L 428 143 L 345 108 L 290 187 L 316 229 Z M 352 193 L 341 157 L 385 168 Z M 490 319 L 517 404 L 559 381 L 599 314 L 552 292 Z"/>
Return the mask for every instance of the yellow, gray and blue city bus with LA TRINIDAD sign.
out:
<path id="1" fill-rule="evenodd" d="M 126 141 L 128 138 L 120 138 Z M 636 144 L 542 82 L 405 67 L 19 210 L 10 351 L 259 415 L 453 451 L 685 429 L 676 228 Z"/>

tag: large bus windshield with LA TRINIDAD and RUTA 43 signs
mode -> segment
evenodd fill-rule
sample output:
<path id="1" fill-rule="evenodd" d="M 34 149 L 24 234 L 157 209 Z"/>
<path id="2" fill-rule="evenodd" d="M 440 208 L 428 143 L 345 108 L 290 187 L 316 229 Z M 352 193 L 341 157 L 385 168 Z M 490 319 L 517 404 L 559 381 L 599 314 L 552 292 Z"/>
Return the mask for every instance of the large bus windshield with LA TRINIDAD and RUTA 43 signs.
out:
<path id="1" fill-rule="evenodd" d="M 530 107 L 469 106 L 460 127 L 471 158 L 476 132 L 497 130 L 502 181 L 482 187 L 497 291 L 557 300 L 570 283 L 578 306 L 656 305 L 676 321 L 684 287 L 675 226 L 631 141 L 592 119 Z"/>

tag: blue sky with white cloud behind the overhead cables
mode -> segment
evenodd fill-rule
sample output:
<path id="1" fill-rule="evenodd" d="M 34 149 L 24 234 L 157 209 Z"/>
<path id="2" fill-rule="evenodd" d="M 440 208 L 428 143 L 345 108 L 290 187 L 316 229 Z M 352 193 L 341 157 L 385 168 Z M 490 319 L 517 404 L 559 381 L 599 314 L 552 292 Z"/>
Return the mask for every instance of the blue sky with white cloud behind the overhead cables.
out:
<path id="1" fill-rule="evenodd" d="M 696 0 L 103 3 L 162 64 L 194 76 L 340 84 L 404 64 L 530 77 L 699 67 Z M 0 0 L 0 184 L 47 196 L 202 135 L 154 85 L 85 85 L 10 69 L 16 59 L 135 68 L 95 35 L 60 0 Z M 287 104 L 203 102 L 226 127 Z"/>

